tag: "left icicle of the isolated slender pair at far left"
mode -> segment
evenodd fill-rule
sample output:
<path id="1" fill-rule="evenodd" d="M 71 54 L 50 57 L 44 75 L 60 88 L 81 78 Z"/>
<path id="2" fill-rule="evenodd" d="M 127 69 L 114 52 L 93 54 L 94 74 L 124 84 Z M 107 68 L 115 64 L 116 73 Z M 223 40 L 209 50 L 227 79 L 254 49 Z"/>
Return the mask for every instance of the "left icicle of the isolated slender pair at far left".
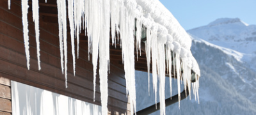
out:
<path id="1" fill-rule="evenodd" d="M 29 70 L 29 36 L 28 36 L 28 0 L 22 0 L 22 24 L 23 24 L 23 35 L 24 35 L 24 45 L 25 45 L 25 52 L 27 58 L 27 67 Z"/>

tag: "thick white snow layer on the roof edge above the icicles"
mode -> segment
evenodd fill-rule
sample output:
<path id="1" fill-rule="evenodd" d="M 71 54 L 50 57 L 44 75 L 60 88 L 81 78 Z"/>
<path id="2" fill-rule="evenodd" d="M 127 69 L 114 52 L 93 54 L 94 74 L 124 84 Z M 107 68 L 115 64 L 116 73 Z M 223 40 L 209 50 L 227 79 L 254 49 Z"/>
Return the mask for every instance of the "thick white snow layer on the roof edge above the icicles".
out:
<path id="1" fill-rule="evenodd" d="M 160 1 L 137 0 L 137 4 L 136 11 L 138 14 L 142 13 L 142 24 L 148 29 L 158 26 L 156 31 L 158 34 L 166 36 L 166 45 L 172 47 L 172 50 L 179 54 L 182 59 L 187 59 L 186 65 L 200 76 L 200 68 L 190 51 L 192 40 L 172 13 Z"/>

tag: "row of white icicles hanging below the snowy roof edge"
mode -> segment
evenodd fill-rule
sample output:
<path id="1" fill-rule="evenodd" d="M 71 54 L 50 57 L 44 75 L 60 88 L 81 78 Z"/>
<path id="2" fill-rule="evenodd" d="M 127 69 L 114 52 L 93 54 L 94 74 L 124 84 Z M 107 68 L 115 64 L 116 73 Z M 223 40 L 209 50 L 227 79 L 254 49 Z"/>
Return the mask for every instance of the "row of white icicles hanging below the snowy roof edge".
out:
<path id="1" fill-rule="evenodd" d="M 27 66 L 29 69 L 29 36 L 28 36 L 28 0 L 22 1 L 22 22 L 24 32 L 24 45 L 26 50 Z M 45 0 L 45 3 L 47 1 Z M 136 46 L 137 56 L 140 50 L 141 42 L 141 14 L 134 13 L 135 1 L 121 0 L 68 0 L 68 19 L 70 25 L 70 35 L 72 44 L 72 57 L 74 75 L 76 75 L 76 54 L 75 54 L 75 38 L 77 40 L 77 58 L 79 57 L 79 33 L 87 30 L 88 34 L 88 52 L 92 54 L 93 63 L 93 89 L 95 98 L 95 81 L 96 70 L 99 56 L 99 76 L 100 76 L 100 99 L 102 105 L 102 114 L 108 114 L 108 72 L 109 72 L 109 31 L 111 31 L 112 43 L 116 43 L 115 33 L 120 34 L 120 44 L 122 44 L 122 57 L 124 63 L 125 79 L 127 94 L 129 93 L 131 114 L 136 112 L 136 91 L 135 91 L 135 75 L 134 75 L 134 19 L 136 20 Z M 61 54 L 61 70 L 65 74 L 65 84 L 67 88 L 67 8 L 66 0 L 57 0 L 58 6 L 58 25 L 60 38 L 60 54 Z M 40 42 L 39 42 L 39 5 L 38 0 L 32 0 L 33 21 L 35 22 L 36 31 L 36 49 L 38 58 L 38 70 L 40 67 Z M 10 9 L 10 0 L 8 0 L 8 8 Z M 136 8 L 135 8 L 136 9 Z M 110 19 L 111 21 L 110 21 Z M 82 19 L 82 20 L 81 20 Z M 110 24 L 110 25 L 109 25 Z M 85 29 L 86 28 L 86 29 Z M 174 75 L 177 75 L 178 92 L 180 100 L 180 76 L 184 81 L 184 85 L 188 85 L 190 93 L 191 88 L 191 68 L 184 65 L 186 59 L 182 59 L 183 65 L 180 65 L 180 57 L 172 56 L 173 46 L 166 43 L 166 36 L 157 33 L 154 29 L 147 29 L 147 66 L 148 66 L 148 87 L 149 87 L 149 70 L 150 59 L 152 59 L 152 81 L 157 97 L 157 79 L 159 79 L 159 97 L 161 114 L 165 114 L 164 104 L 164 84 L 165 70 L 172 73 L 172 65 L 174 65 Z M 164 41 L 165 39 L 165 41 Z M 166 46 L 166 47 L 165 47 Z M 150 54 L 151 53 L 151 54 Z M 172 57 L 175 61 L 172 62 Z M 166 65 L 167 62 L 167 65 Z M 172 64 L 173 63 L 173 64 Z M 182 75 L 180 68 L 183 68 Z M 177 72 L 177 73 L 175 73 Z M 196 75 L 197 77 L 197 75 Z M 172 96 L 172 77 L 170 77 L 170 89 Z M 196 78 L 197 79 L 197 78 Z M 198 81 L 192 83 L 193 93 L 198 97 Z M 184 87 L 186 88 L 186 87 Z"/>

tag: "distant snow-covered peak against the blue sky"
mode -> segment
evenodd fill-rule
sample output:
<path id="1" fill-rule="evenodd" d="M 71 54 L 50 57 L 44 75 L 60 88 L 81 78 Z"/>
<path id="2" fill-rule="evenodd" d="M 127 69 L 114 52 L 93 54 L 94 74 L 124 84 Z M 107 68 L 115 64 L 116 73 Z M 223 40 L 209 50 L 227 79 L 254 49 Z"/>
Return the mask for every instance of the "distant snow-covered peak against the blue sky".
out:
<path id="1" fill-rule="evenodd" d="M 237 59 L 256 70 L 256 25 L 248 25 L 237 18 L 224 18 L 187 32 L 214 45 L 240 52 Z"/>

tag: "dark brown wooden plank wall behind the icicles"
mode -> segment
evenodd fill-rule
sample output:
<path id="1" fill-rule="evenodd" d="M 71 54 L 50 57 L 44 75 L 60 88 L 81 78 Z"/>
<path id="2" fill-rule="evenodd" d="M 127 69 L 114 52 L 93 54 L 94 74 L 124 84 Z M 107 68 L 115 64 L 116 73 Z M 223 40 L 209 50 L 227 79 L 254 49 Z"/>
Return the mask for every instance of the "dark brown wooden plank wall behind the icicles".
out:
<path id="1" fill-rule="evenodd" d="M 87 44 L 80 43 L 79 59 L 76 59 L 76 77 L 73 75 L 70 34 L 68 34 L 68 88 L 61 72 L 58 25 L 44 22 L 40 17 L 40 58 L 42 70 L 38 70 L 36 58 L 35 27 L 29 11 L 30 70 L 26 65 L 20 3 L 13 0 L 8 10 L 8 0 L 0 1 L 0 75 L 12 81 L 47 89 L 61 95 L 100 105 L 99 73 L 95 102 L 93 102 L 93 70 L 88 61 Z M 109 114 L 129 114 L 126 98 L 124 70 L 111 64 L 108 81 Z M 10 88 L 10 86 L 3 86 Z M 0 87 L 1 88 L 1 87 Z M 3 98 L 10 103 L 10 98 Z M 0 103 L 1 108 L 1 103 Z M 10 110 L 7 112 L 11 112 Z M 1 114 L 1 112 L 0 112 Z"/>

